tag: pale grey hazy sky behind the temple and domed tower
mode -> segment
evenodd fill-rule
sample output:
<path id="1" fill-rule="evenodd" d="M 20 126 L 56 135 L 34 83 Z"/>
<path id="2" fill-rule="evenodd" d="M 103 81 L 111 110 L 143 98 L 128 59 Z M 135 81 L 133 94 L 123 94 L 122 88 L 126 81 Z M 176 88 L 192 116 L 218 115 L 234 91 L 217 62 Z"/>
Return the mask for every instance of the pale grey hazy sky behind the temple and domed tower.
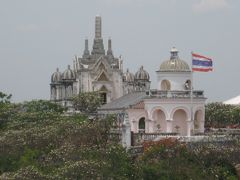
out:
<path id="1" fill-rule="evenodd" d="M 156 88 L 156 71 L 176 47 L 213 59 L 214 71 L 194 73 L 195 90 L 208 102 L 240 94 L 239 0 L 0 0 L 0 91 L 14 102 L 50 98 L 51 74 L 92 47 L 95 16 L 124 68 L 141 65 Z"/>

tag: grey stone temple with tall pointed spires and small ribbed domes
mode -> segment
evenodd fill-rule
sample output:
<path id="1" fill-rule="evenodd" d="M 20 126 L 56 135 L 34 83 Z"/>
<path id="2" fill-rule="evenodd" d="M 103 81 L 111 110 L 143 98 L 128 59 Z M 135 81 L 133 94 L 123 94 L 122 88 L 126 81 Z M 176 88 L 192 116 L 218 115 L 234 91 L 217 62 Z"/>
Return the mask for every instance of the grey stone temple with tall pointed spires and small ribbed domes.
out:
<path id="1" fill-rule="evenodd" d="M 63 73 L 57 69 L 50 89 L 51 100 L 67 107 L 71 106 L 71 97 L 91 91 L 98 91 L 105 104 L 128 93 L 149 90 L 150 77 L 143 67 L 135 75 L 129 70 L 124 73 L 123 60 L 114 56 L 111 39 L 104 49 L 102 20 L 96 16 L 92 50 L 86 39 L 82 56 L 74 58 L 73 69 L 69 65 Z"/>

